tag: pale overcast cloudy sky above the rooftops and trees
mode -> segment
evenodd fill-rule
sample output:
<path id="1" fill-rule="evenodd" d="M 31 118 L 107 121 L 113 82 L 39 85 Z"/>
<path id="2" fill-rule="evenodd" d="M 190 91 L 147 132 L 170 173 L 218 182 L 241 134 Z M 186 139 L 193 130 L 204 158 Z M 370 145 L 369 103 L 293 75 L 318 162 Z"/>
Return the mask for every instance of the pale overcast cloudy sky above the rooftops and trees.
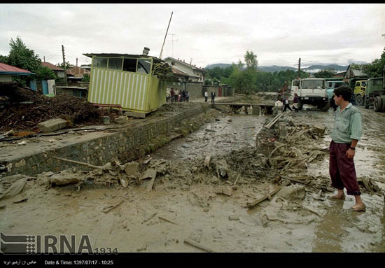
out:
<path id="1" fill-rule="evenodd" d="M 22 38 L 46 62 L 89 64 L 83 53 L 175 57 L 205 67 L 243 61 L 260 66 L 372 62 L 385 47 L 383 3 L 7 3 L 0 4 L 0 55 Z M 384 35 L 384 36 L 383 36 Z M 174 40 L 174 41 L 173 41 Z"/>

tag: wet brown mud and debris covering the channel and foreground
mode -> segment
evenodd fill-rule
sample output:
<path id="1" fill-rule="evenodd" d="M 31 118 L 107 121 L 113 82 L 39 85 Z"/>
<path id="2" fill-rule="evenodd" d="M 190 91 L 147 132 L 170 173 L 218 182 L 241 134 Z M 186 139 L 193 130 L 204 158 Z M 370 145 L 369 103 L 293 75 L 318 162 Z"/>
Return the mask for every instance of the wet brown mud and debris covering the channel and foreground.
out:
<path id="1" fill-rule="evenodd" d="M 273 117 L 232 115 L 223 108 L 211 111 L 197 132 L 137 160 L 138 170 L 126 172 L 131 175 L 125 183 L 114 171 L 106 176 L 102 170 L 25 178 L 22 193 L 0 200 L 5 206 L 0 230 L 88 234 L 93 248 L 118 252 L 203 251 L 185 241 L 215 252 L 384 252 L 385 114 L 360 110 L 363 137 L 356 171 L 361 181 L 377 186 L 370 191 L 360 183 L 365 212 L 350 209 L 351 196 L 340 202 L 326 198 L 332 195 L 325 150 L 332 109 L 304 106 L 299 113 L 286 113 L 290 139 L 269 142 L 288 146 L 266 157 L 255 150 L 255 136 Z M 323 136 L 310 131 L 316 123 L 326 127 Z M 273 136 L 279 132 L 277 126 L 272 129 Z M 148 170 L 156 171 L 153 188 L 143 178 Z M 55 176 L 83 180 L 60 187 L 52 185 Z M 2 191 L 11 184 L 3 183 Z M 248 208 L 275 189 L 275 195 Z"/>

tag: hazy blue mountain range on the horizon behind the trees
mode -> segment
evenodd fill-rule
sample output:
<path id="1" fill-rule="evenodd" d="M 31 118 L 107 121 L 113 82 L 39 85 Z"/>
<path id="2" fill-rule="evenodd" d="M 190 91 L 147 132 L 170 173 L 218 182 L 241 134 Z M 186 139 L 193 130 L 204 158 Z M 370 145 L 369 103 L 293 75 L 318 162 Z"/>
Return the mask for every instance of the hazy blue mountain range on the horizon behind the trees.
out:
<path id="1" fill-rule="evenodd" d="M 219 68 L 224 69 L 224 68 L 228 68 L 230 66 L 231 66 L 231 64 L 225 64 L 225 63 L 209 64 L 208 66 L 206 66 L 205 69 L 214 69 L 215 67 L 219 67 Z M 332 70 L 335 70 L 337 72 L 340 72 L 340 71 L 346 71 L 347 68 L 348 68 L 348 66 L 338 65 L 338 64 L 314 64 L 314 65 L 311 65 L 308 67 L 301 67 L 301 70 L 307 71 L 309 73 L 315 73 L 317 71 L 321 71 L 321 70 L 325 70 L 325 69 L 332 69 Z M 297 68 L 295 68 L 295 67 L 276 66 L 276 65 L 258 66 L 258 69 L 260 71 L 267 71 L 270 73 L 274 73 L 274 71 L 286 71 L 287 69 L 289 69 L 291 71 L 297 71 Z"/>

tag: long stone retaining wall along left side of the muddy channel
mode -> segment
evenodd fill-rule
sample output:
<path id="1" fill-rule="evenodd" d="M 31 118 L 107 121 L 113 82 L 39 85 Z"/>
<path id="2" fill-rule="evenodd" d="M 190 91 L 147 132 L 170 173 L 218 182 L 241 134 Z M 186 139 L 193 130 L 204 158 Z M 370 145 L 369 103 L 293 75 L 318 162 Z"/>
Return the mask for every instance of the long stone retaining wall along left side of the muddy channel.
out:
<path id="1" fill-rule="evenodd" d="M 18 157 L 13 160 L 0 159 L 0 162 L 8 167 L 8 171 L 1 175 L 34 175 L 43 171 L 57 172 L 69 167 L 87 169 L 87 167 L 80 166 L 79 164 L 63 162 L 52 157 L 62 157 L 94 165 L 103 165 L 111 162 L 113 157 L 118 157 L 120 161 L 128 162 L 143 156 L 146 151 L 142 147 L 148 146 L 152 139 L 162 134 L 169 135 L 174 127 L 180 124 L 181 120 L 203 113 L 205 109 L 204 106 L 198 106 L 179 113 L 152 118 L 138 125 L 129 125 L 120 132 L 99 134 L 97 138 L 83 141 L 71 141 L 66 143 L 66 146 L 31 153 L 25 157 Z"/>

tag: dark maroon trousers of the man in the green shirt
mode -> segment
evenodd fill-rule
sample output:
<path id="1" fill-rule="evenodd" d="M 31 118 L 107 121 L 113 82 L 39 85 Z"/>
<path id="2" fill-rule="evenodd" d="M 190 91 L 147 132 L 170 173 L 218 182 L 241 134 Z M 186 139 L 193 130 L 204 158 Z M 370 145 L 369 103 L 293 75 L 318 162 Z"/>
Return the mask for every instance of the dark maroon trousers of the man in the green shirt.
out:
<path id="1" fill-rule="evenodd" d="M 330 143 L 329 174 L 333 187 L 346 188 L 348 195 L 360 195 L 353 158 L 346 156 L 349 147 L 350 143 Z"/>

